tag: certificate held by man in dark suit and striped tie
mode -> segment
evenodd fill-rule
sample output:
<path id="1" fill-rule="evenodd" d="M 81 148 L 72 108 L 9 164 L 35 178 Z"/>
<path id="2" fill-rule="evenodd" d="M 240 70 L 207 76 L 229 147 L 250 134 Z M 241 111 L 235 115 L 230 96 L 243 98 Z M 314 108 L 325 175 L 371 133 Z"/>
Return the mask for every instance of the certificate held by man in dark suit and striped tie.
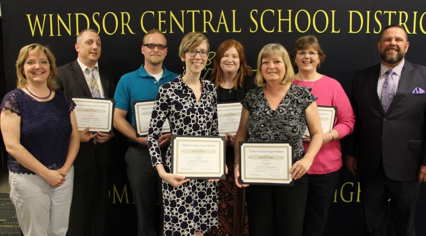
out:
<path id="1" fill-rule="evenodd" d="M 89 132 L 112 132 L 114 99 L 108 98 L 72 98 L 77 104 L 74 113 L 78 130 L 89 127 Z"/>

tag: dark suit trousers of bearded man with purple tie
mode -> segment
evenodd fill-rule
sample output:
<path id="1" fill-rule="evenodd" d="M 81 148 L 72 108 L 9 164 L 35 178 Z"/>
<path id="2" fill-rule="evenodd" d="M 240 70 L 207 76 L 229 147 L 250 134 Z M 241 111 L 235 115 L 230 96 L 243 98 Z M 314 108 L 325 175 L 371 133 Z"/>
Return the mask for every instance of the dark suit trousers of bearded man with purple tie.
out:
<path id="1" fill-rule="evenodd" d="M 392 180 L 384 173 L 382 163 L 373 177 L 360 175 L 360 179 L 366 235 L 415 236 L 419 180 Z"/>

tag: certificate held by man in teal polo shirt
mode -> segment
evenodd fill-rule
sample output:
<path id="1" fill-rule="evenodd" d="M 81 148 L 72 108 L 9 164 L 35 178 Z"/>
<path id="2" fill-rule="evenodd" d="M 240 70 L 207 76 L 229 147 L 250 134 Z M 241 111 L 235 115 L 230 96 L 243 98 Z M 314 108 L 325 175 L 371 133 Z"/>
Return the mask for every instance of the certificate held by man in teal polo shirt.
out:
<path id="1" fill-rule="evenodd" d="M 149 121 L 151 120 L 152 110 L 155 100 L 133 101 L 133 114 L 135 118 L 136 137 L 145 137 L 148 135 Z M 169 120 L 165 120 L 162 133 L 170 133 Z"/>

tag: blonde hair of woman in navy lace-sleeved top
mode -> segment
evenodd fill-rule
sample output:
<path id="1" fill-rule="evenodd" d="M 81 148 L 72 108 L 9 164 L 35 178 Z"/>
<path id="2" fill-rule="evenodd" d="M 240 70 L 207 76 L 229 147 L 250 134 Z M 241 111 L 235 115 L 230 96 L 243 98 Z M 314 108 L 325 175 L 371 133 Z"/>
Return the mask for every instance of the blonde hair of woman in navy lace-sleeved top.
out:
<path id="1" fill-rule="evenodd" d="M 44 53 L 47 57 L 47 60 L 50 64 L 50 74 L 47 78 L 47 87 L 50 90 L 55 90 L 59 86 L 56 84 L 55 79 L 58 76 L 58 72 L 56 69 L 56 59 L 53 56 L 53 53 L 49 50 L 47 46 L 44 46 L 39 43 L 31 43 L 21 48 L 19 51 L 18 59 L 16 60 L 16 75 L 18 77 L 18 82 L 16 84 L 17 88 L 25 88 L 27 86 L 27 79 L 23 73 L 23 64 L 25 63 L 28 54 L 34 51 L 35 54 Z"/>

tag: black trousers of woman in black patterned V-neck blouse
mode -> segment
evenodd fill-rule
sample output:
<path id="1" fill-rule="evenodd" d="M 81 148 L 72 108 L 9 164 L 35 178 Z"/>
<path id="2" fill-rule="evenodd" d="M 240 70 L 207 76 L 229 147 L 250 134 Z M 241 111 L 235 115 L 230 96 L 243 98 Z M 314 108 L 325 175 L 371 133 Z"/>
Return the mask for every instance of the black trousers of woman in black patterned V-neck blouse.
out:
<path id="1" fill-rule="evenodd" d="M 308 177 L 294 186 L 250 185 L 246 188 L 250 236 L 301 236 Z"/>

